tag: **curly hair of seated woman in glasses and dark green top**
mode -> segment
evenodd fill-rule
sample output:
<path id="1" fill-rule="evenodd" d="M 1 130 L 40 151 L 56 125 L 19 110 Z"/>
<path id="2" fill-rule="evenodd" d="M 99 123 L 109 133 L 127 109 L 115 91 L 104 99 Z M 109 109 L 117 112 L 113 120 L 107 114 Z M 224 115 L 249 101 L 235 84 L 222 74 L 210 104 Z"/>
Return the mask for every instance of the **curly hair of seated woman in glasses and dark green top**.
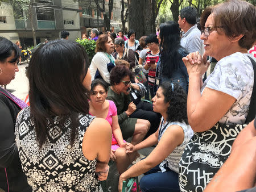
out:
<path id="1" fill-rule="evenodd" d="M 110 72 L 110 84 L 115 85 L 121 82 L 122 78 L 129 76 L 130 79 L 133 79 L 133 73 L 125 65 L 115 66 Z"/>

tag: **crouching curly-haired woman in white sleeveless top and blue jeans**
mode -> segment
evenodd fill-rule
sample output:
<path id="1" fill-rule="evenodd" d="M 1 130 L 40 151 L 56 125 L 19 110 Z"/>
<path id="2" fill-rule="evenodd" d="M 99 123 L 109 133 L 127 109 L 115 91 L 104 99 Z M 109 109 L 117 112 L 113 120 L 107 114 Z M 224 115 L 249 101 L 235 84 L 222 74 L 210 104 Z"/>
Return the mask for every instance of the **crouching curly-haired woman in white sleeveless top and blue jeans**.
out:
<path id="1" fill-rule="evenodd" d="M 127 153 L 156 145 L 143 160 L 131 166 L 119 178 L 122 182 L 144 173 L 140 186 L 142 191 L 179 191 L 179 161 L 193 131 L 187 119 L 187 95 L 177 84 L 163 82 L 153 101 L 155 112 L 160 112 L 162 120 L 158 131 L 137 145 L 127 145 Z"/>

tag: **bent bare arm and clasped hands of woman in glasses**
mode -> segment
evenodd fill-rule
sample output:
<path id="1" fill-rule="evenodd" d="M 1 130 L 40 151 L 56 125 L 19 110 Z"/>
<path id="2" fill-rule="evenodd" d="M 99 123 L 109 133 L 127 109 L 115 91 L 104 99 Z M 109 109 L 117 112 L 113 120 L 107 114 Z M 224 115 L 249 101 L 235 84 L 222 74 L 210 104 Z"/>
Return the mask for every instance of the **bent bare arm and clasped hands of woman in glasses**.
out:
<path id="1" fill-rule="evenodd" d="M 188 122 L 193 131 L 202 132 L 212 128 L 228 112 L 236 98 L 208 87 L 204 89 L 203 95 L 201 95 L 201 77 L 208 69 L 209 62 L 197 54 L 195 54 L 196 57 L 198 56 L 197 60 L 191 61 L 193 53 L 190 53 L 187 57 L 183 57 L 183 62 L 189 75 Z"/>

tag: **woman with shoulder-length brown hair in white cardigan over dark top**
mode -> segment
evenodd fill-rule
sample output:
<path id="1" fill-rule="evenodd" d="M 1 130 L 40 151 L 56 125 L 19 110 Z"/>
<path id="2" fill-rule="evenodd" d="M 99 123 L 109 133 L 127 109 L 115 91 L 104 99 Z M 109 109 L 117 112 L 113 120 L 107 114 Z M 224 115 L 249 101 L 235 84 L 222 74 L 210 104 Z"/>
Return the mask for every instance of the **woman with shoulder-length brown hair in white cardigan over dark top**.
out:
<path id="1" fill-rule="evenodd" d="M 96 41 L 96 55 L 94 55 L 90 64 L 92 80 L 102 78 L 110 84 L 110 70 L 115 66 L 115 59 L 112 56 L 113 51 L 114 44 L 111 37 L 107 34 L 100 35 Z"/>

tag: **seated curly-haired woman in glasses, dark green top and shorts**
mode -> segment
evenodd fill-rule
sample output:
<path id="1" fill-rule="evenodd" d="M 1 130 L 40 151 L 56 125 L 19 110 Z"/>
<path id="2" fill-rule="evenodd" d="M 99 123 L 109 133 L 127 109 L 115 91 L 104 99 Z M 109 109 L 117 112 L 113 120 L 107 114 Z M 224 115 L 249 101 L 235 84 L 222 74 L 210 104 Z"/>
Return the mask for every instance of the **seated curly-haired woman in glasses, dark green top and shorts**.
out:
<path id="1" fill-rule="evenodd" d="M 118 123 L 124 139 L 133 136 L 131 143 L 138 144 L 142 141 L 150 128 L 150 122 L 144 119 L 130 118 L 136 110 L 136 105 L 131 102 L 130 84 L 133 74 L 126 66 L 115 66 L 110 73 L 110 88 L 107 99 L 112 100 L 117 106 Z"/>

